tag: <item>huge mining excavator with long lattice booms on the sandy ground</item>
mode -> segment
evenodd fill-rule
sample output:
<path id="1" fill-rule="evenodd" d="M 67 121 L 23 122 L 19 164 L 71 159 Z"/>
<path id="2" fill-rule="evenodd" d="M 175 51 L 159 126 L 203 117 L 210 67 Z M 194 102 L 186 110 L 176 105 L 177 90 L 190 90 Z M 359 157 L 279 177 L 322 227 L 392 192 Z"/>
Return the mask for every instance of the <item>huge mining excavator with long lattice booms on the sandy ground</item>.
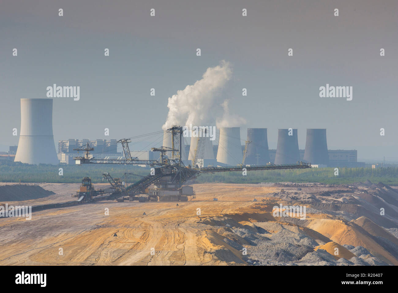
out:
<path id="1" fill-rule="evenodd" d="M 77 165 L 82 164 L 115 164 L 115 165 L 150 165 L 150 173 L 146 176 L 142 176 L 137 182 L 125 186 L 125 183 L 120 181 L 119 178 L 113 178 L 109 173 L 103 173 L 104 178 L 111 184 L 115 189 L 110 199 L 118 199 L 123 201 L 126 197 L 130 201 L 187 201 L 189 196 L 194 196 L 195 192 L 191 186 L 184 185 L 187 181 L 194 179 L 202 173 L 216 173 L 216 172 L 231 172 L 231 171 L 242 171 L 242 168 L 250 170 L 275 170 L 275 169 L 305 169 L 311 168 L 310 163 L 297 162 L 297 164 L 289 165 L 256 165 L 256 166 L 245 166 L 244 160 L 242 164 L 236 166 L 227 167 L 199 167 L 198 164 L 201 153 L 204 148 L 204 139 L 198 138 L 197 147 L 194 153 L 194 159 L 192 160 L 192 166 L 185 166 L 181 159 L 181 145 L 183 139 L 183 128 L 181 126 L 173 126 L 166 130 L 172 135 L 172 147 L 152 147 L 151 151 L 160 152 L 160 158 L 158 160 L 140 160 L 131 157 L 129 150 L 129 139 L 119 140 L 123 147 L 123 153 L 125 159 L 96 159 L 89 157 L 89 150 L 84 149 L 86 153 L 83 157 L 74 157 Z M 246 147 L 250 142 L 246 142 Z M 89 146 L 86 146 L 88 148 Z M 83 149 L 82 149 L 83 150 Z M 171 153 L 168 157 L 167 153 Z M 147 195 L 143 197 L 140 195 Z M 144 200 L 145 199 L 145 200 Z"/>

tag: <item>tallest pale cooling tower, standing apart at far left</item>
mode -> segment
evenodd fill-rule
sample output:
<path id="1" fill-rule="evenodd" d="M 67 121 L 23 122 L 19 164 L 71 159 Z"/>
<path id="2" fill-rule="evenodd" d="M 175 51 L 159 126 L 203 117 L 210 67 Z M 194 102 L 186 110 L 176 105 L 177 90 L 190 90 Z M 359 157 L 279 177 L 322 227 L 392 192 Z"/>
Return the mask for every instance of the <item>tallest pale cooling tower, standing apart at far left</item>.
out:
<path id="1" fill-rule="evenodd" d="M 21 99 L 21 130 L 15 162 L 59 164 L 53 136 L 53 99 Z"/>

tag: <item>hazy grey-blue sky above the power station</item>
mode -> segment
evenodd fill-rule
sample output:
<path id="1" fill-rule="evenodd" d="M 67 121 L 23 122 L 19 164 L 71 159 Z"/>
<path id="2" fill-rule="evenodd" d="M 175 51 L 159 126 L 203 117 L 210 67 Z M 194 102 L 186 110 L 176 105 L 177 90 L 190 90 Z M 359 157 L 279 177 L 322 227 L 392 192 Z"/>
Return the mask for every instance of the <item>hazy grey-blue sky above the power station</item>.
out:
<path id="1" fill-rule="evenodd" d="M 78 101 L 54 98 L 56 146 L 69 138 L 119 140 L 161 130 L 168 98 L 224 60 L 232 76 L 217 100 L 228 99 L 229 112 L 244 118 L 236 125 L 242 139 L 247 128 L 267 128 L 276 148 L 278 128 L 297 128 L 304 149 L 306 128 L 326 128 L 329 149 L 398 161 L 396 0 L 0 5 L 0 151 L 18 144 L 20 99 L 47 98 L 48 86 L 80 86 Z M 326 84 L 352 86 L 352 100 L 321 98 Z"/>

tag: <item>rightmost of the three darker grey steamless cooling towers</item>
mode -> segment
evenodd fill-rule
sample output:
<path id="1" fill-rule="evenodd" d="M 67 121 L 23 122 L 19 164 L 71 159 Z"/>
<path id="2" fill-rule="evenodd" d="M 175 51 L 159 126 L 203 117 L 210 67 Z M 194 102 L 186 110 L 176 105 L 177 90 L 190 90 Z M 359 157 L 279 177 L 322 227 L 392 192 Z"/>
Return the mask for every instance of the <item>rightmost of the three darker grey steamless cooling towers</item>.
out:
<path id="1" fill-rule="evenodd" d="M 329 153 L 326 129 L 307 129 L 304 160 L 311 164 L 328 165 Z"/>

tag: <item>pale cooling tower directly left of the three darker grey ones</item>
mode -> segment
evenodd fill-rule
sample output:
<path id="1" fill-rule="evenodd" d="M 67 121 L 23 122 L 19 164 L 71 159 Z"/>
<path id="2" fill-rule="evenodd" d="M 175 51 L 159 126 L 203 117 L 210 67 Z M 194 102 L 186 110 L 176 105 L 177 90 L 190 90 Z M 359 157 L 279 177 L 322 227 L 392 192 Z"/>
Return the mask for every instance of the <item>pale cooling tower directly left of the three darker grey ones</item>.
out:
<path id="1" fill-rule="evenodd" d="M 236 166 L 242 164 L 243 153 L 239 127 L 220 128 L 217 164 Z"/>

